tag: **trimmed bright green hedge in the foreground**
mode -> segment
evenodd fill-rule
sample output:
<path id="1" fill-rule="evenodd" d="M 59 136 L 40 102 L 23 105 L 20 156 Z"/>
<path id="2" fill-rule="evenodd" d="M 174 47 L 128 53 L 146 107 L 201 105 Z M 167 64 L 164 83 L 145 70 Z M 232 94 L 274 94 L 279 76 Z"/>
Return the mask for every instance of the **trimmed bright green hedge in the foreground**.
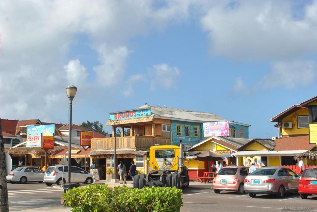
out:
<path id="1" fill-rule="evenodd" d="M 62 196 L 64 205 L 76 212 L 176 212 L 183 206 L 182 194 L 176 187 L 131 189 L 94 184 L 73 188 Z"/>

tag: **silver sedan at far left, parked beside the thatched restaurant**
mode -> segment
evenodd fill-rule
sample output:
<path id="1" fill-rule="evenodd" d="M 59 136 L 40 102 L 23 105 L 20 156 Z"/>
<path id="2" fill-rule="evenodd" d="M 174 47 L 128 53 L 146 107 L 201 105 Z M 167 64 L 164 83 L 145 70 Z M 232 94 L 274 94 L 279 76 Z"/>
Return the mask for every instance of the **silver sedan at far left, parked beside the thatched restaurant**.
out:
<path id="1" fill-rule="evenodd" d="M 39 182 L 42 183 L 44 178 L 44 171 L 37 167 L 24 166 L 18 167 L 11 171 L 7 176 L 7 181 L 14 184 L 20 182 L 24 184 L 26 182 Z"/>

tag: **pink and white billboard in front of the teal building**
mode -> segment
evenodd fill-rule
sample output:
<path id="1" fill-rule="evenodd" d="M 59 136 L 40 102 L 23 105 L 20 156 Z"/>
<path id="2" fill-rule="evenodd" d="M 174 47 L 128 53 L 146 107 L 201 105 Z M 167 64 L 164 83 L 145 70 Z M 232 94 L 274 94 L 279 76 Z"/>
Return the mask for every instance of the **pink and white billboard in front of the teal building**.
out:
<path id="1" fill-rule="evenodd" d="M 204 137 L 228 136 L 229 122 L 207 122 L 204 123 Z"/>

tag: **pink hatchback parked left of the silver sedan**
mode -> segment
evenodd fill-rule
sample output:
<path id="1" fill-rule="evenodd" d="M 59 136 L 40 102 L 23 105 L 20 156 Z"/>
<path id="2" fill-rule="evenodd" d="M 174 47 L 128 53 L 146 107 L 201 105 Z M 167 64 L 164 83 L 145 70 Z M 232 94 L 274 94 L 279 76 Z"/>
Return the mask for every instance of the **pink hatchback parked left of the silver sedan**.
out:
<path id="1" fill-rule="evenodd" d="M 238 194 L 244 194 L 244 178 L 248 176 L 248 167 L 246 166 L 225 166 L 219 170 L 216 178 L 212 182 L 212 189 L 216 194 L 221 190 L 237 191 Z"/>

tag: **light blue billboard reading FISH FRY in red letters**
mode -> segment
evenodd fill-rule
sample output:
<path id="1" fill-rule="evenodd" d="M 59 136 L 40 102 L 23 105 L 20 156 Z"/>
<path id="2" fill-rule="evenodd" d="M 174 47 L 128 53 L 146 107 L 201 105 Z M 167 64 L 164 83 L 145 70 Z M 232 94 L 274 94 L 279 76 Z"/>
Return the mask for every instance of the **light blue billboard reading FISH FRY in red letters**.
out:
<path id="1" fill-rule="evenodd" d="M 55 132 L 55 124 L 28 126 L 26 147 L 41 147 L 42 136 L 53 136 Z"/>

